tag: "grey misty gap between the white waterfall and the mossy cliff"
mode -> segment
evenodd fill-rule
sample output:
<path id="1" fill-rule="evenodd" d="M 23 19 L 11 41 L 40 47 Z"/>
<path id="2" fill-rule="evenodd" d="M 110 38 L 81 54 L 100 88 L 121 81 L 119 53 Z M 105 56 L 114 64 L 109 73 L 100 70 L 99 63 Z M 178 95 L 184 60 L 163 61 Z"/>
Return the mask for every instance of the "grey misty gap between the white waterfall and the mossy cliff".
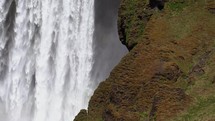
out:
<path id="1" fill-rule="evenodd" d="M 95 0 L 94 65 L 92 81 L 104 81 L 111 70 L 128 53 L 117 30 L 120 0 Z M 93 85 L 97 86 L 97 85 Z"/>

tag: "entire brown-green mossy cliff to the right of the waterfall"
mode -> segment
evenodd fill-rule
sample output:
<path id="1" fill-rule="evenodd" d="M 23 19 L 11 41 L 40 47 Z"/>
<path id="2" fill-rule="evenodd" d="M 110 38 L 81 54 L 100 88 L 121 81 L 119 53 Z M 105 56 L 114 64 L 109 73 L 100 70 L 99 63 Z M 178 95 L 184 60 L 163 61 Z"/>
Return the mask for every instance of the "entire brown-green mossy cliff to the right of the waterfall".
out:
<path id="1" fill-rule="evenodd" d="M 215 1 L 122 0 L 130 50 L 75 121 L 215 120 Z"/>

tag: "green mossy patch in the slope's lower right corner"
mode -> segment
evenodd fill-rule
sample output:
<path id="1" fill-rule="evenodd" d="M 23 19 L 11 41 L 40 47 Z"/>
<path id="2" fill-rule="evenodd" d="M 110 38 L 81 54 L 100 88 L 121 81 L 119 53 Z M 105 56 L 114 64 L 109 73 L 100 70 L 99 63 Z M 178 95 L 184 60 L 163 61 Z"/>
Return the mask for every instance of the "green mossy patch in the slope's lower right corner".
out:
<path id="1" fill-rule="evenodd" d="M 186 92 L 193 97 L 193 104 L 172 121 L 212 121 L 215 119 L 215 91 L 212 83 L 215 73 L 214 68 L 211 68 L 214 64 L 214 61 L 211 61 L 213 57 L 214 54 L 211 54 L 209 62 L 204 67 L 205 74 L 196 75 L 193 85 L 187 86 L 186 79 L 184 79 L 183 86 L 187 86 Z"/>

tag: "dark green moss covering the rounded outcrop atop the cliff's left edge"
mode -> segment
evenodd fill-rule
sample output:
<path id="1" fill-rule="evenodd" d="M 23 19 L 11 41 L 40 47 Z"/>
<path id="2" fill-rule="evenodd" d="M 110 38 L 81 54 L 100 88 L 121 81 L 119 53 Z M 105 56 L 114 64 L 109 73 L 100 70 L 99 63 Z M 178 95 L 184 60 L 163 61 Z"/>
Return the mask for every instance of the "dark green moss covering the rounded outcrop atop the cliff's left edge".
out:
<path id="1" fill-rule="evenodd" d="M 126 44 L 135 46 L 145 31 L 145 26 L 150 17 L 147 9 L 148 0 L 123 0 L 119 23 L 124 22 Z"/>

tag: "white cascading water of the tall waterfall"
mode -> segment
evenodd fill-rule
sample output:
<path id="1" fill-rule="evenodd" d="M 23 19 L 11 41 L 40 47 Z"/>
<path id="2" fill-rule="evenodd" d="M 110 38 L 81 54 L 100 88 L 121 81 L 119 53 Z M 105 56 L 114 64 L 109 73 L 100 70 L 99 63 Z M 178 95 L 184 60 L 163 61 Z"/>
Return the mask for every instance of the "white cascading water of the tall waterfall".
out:
<path id="1" fill-rule="evenodd" d="M 0 0 L 0 121 L 71 121 L 87 108 L 94 0 Z"/>

